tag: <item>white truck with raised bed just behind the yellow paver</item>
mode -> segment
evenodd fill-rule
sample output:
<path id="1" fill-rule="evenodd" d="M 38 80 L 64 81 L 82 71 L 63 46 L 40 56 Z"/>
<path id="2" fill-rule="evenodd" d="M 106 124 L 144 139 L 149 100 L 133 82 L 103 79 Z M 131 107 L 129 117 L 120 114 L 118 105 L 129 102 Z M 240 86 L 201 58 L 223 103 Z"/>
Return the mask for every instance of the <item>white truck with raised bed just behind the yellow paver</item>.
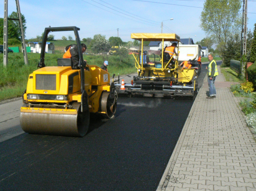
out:
<path id="1" fill-rule="evenodd" d="M 191 61 L 191 68 L 194 68 L 197 75 L 200 75 L 202 63 L 200 57 L 204 56 L 204 52 L 201 51 L 200 44 L 179 44 L 179 64 L 183 61 Z M 178 48 L 176 48 L 178 52 Z M 202 55 L 201 55 L 202 52 Z M 176 58 L 176 56 L 174 56 Z"/>

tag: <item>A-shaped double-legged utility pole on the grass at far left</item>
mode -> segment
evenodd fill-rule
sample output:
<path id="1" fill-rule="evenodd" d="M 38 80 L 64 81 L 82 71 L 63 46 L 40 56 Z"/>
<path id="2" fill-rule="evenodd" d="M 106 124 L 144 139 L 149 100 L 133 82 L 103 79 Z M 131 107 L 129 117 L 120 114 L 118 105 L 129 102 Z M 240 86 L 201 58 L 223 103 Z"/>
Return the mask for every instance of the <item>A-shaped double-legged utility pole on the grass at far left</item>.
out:
<path id="1" fill-rule="evenodd" d="M 28 55 L 27 55 L 27 49 L 26 49 L 26 43 L 25 43 L 23 23 L 21 18 L 20 3 L 19 3 L 19 0 L 15 0 L 15 1 L 16 1 L 16 8 L 17 8 L 17 16 L 19 18 L 8 18 L 8 0 L 4 0 L 4 39 L 3 39 L 4 40 L 4 59 L 3 59 L 4 66 L 7 66 L 8 64 L 8 20 L 19 21 L 22 53 L 23 53 L 25 64 L 26 65 L 28 64 Z"/>

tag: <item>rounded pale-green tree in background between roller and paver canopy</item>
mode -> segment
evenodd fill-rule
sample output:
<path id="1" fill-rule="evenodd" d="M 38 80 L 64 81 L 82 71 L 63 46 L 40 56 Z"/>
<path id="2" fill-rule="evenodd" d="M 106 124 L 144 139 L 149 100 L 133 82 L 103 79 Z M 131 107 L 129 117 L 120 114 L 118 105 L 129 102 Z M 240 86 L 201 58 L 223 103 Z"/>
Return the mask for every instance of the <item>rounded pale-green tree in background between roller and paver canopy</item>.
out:
<path id="1" fill-rule="evenodd" d="M 90 47 L 92 48 L 93 52 L 100 54 L 103 60 L 107 59 L 110 44 L 108 40 L 106 40 L 105 35 L 94 35 L 92 42 L 90 42 Z"/>

